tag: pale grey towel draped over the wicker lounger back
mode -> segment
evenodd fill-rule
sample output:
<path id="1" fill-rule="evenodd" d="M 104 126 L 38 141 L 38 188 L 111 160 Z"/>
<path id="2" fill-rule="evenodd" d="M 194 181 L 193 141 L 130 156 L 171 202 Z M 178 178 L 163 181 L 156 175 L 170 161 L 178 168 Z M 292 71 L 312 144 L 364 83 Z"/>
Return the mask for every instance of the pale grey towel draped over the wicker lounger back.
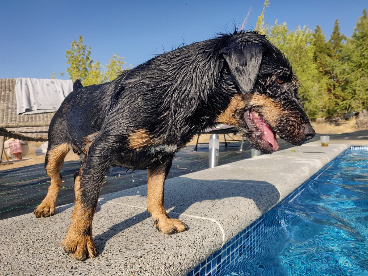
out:
<path id="1" fill-rule="evenodd" d="M 70 79 L 17 78 L 17 113 L 55 112 L 72 90 L 73 82 Z"/>

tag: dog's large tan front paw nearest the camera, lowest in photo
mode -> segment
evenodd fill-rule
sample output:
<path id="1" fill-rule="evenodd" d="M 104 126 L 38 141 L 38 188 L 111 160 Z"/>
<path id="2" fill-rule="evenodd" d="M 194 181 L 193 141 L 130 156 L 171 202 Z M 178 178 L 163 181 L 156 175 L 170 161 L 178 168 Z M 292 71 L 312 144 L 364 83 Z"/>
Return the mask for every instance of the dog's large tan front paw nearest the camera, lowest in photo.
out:
<path id="1" fill-rule="evenodd" d="M 71 253 L 72 257 L 84 261 L 87 258 L 93 258 L 97 255 L 97 249 L 91 236 L 72 236 L 68 235 L 61 243 L 63 249 L 67 253 Z"/>

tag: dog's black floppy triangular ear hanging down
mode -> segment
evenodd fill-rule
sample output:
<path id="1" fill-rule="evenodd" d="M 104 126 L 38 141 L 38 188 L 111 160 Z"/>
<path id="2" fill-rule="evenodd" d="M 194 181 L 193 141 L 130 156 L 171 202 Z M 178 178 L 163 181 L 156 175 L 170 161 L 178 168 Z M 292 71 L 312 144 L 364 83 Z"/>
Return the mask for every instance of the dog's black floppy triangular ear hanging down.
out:
<path id="1" fill-rule="evenodd" d="M 243 42 L 221 50 L 236 84 L 247 94 L 252 91 L 261 66 L 263 48 L 253 42 Z"/>

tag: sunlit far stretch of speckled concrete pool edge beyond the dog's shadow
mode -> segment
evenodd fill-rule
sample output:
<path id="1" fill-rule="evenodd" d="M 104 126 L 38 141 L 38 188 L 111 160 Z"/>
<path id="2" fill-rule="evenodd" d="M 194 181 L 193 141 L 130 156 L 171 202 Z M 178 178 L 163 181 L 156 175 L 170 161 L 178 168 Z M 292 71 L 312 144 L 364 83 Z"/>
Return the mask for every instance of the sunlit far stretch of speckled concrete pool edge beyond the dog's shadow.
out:
<path id="1" fill-rule="evenodd" d="M 281 201 L 349 146 L 364 143 L 368 144 L 365 141 L 333 140 L 328 147 L 322 147 L 321 142 L 316 141 L 182 177 L 230 182 L 242 180 L 247 183 L 261 181 L 276 187 L 280 194 L 278 201 Z"/>

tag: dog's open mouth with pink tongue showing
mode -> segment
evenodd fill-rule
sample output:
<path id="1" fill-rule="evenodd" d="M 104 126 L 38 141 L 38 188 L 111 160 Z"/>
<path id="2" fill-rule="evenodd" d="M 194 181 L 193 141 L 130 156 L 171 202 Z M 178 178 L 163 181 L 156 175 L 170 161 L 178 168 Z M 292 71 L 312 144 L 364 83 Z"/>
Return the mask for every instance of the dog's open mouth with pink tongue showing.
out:
<path id="1" fill-rule="evenodd" d="M 245 123 L 253 132 L 252 137 L 264 152 L 273 152 L 279 149 L 276 134 L 261 113 L 254 110 L 244 112 Z"/>

